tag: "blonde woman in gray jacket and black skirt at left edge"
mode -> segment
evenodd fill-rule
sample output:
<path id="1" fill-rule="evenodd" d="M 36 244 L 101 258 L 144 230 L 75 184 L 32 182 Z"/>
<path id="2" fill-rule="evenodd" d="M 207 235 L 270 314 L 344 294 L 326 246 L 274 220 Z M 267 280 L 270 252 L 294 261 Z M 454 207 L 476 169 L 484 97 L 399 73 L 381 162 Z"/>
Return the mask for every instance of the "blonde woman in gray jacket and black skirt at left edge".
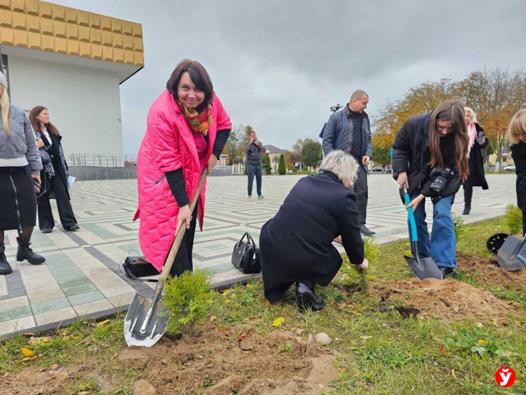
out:
<path id="1" fill-rule="evenodd" d="M 36 224 L 36 194 L 42 161 L 35 134 L 21 108 L 9 104 L 7 80 L 0 73 L 0 274 L 13 272 L 5 256 L 4 232 L 18 231 L 16 260 L 45 262 L 29 247 Z"/>

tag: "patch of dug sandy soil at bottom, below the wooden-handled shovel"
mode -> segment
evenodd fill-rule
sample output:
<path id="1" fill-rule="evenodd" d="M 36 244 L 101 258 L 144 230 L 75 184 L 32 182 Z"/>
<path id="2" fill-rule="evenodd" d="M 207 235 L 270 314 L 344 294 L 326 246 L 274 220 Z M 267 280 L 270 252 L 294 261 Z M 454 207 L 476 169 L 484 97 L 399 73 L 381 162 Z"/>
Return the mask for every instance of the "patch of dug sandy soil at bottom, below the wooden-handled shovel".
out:
<path id="1" fill-rule="evenodd" d="M 248 325 L 227 332 L 210 323 L 199 337 L 165 337 L 150 349 L 125 350 L 119 359 L 134 367 L 147 361 L 138 379 L 157 393 L 206 388 L 210 395 L 317 395 L 338 377 L 335 356 L 317 351 L 312 340 L 280 330 L 262 337 Z"/>

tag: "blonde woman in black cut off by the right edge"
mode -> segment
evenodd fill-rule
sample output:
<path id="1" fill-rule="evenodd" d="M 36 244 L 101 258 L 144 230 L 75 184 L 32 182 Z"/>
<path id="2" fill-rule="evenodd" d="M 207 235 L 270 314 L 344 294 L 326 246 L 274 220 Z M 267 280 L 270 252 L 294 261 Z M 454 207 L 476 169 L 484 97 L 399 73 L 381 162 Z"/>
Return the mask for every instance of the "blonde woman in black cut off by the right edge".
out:
<path id="1" fill-rule="evenodd" d="M 511 118 L 506 134 L 510 141 L 511 157 L 515 163 L 517 205 L 522 211 L 522 235 L 526 234 L 526 108 Z"/>

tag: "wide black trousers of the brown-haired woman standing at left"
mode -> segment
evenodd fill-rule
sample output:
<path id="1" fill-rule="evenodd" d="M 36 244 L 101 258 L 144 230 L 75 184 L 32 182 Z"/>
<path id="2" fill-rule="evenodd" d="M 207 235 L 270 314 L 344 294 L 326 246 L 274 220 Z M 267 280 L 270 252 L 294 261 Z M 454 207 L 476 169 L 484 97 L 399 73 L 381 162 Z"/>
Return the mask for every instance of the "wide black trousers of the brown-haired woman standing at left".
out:
<path id="1" fill-rule="evenodd" d="M 75 219 L 75 214 L 73 213 L 73 208 L 69 202 L 69 197 L 67 194 L 66 184 L 64 179 L 59 174 L 51 177 L 49 180 L 49 190 L 38 197 L 38 227 L 40 230 L 48 228 L 53 229 L 55 226 L 55 219 L 53 218 L 53 213 L 51 211 L 51 204 L 49 202 L 49 193 L 55 192 L 55 199 L 57 201 L 58 216 L 60 218 L 60 223 L 64 229 L 68 226 L 75 225 L 77 220 Z"/>

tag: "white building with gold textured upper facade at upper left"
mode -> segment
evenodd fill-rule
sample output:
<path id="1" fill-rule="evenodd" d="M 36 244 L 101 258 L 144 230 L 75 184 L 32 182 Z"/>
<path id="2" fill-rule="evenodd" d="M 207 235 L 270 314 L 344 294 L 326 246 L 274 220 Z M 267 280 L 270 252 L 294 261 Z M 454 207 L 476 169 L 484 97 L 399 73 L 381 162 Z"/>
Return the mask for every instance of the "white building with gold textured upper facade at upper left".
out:
<path id="1" fill-rule="evenodd" d="M 0 50 L 11 101 L 47 107 L 66 153 L 123 153 L 119 85 L 144 67 L 140 24 L 0 0 Z"/>

